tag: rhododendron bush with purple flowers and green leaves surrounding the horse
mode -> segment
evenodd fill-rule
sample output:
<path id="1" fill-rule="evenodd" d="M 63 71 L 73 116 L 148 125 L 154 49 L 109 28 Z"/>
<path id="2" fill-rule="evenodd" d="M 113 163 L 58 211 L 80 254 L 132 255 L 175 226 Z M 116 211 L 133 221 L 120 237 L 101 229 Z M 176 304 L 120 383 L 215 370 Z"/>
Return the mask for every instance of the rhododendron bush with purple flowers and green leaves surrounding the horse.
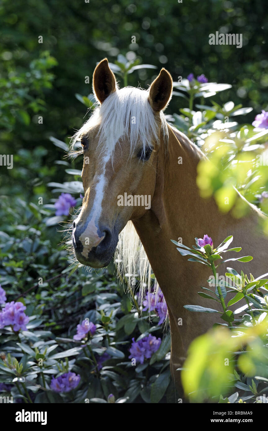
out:
<path id="1" fill-rule="evenodd" d="M 111 64 L 125 84 L 135 70 L 154 67 L 123 56 Z M 256 112 L 255 120 L 248 122 L 252 108 L 232 101 L 221 106 L 218 93 L 230 88 L 231 84 L 210 82 L 208 72 L 196 78 L 191 72 L 174 83 L 174 99 L 182 98 L 184 108 L 166 113 L 166 118 L 206 153 L 197 177 L 203 197 L 213 195 L 222 211 L 243 217 L 246 207 L 238 206 L 232 192 L 235 186 L 268 213 L 268 173 L 263 162 L 268 112 Z M 93 95 L 76 96 L 93 109 Z M 131 275 L 137 278 L 131 296 L 126 293 L 126 280 L 116 278 L 113 263 L 90 272 L 73 261 L 72 253 L 68 255 L 68 232 L 84 189 L 79 161 L 63 160 L 67 143 L 56 137 L 50 140 L 62 154 L 61 160 L 55 159 L 55 169 L 43 172 L 48 184 L 36 185 L 47 200 L 39 205 L 37 195 L 30 200 L 15 196 L 16 211 L 10 211 L 3 197 L 0 209 L 1 218 L 9 221 L 0 231 L 0 394 L 12 396 L 16 403 L 176 403 L 162 291 L 155 289 L 152 274 L 151 287 L 143 286 L 145 297 L 139 301 L 139 275 Z M 40 162 L 47 152 L 37 146 L 34 154 Z M 221 207 L 225 195 L 230 202 Z M 267 221 L 262 229 L 267 234 Z M 220 245 L 209 232 L 203 234 L 194 246 L 173 241 L 174 253 L 186 256 L 193 265 L 207 265 L 215 280 L 232 232 Z M 240 247 L 231 250 L 239 253 Z M 268 278 L 267 274 L 238 274 L 235 263 L 232 266 L 225 274 L 228 281 L 218 281 L 214 289 L 210 284 L 200 286 L 199 295 L 218 301 L 222 311 L 217 328 L 194 340 L 182 370 L 185 395 L 193 401 L 265 402 Z M 238 304 L 231 311 L 230 306 L 242 299 L 246 306 Z M 219 313 L 210 305 L 185 304 L 185 308 L 189 313 L 204 312 L 204 319 L 206 313 Z M 196 358 L 201 356 L 198 371 Z M 215 365 L 223 363 L 213 362 L 215 356 L 229 359 L 231 367 Z"/>

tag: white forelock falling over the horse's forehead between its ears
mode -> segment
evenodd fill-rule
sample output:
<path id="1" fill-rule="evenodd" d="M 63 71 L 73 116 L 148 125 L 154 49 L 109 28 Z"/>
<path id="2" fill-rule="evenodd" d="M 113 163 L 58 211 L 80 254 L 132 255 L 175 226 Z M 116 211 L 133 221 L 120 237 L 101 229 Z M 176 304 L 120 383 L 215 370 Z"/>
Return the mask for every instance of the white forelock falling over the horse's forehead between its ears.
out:
<path id="1" fill-rule="evenodd" d="M 149 92 L 135 87 L 124 87 L 114 91 L 97 106 L 84 125 L 71 140 L 71 153 L 82 135 L 99 128 L 97 137 L 112 155 L 120 138 L 128 137 L 130 156 L 139 144 L 145 152 L 153 143 L 160 144 L 160 136 L 168 143 L 168 125 L 161 111 L 156 116 L 148 101 Z"/>

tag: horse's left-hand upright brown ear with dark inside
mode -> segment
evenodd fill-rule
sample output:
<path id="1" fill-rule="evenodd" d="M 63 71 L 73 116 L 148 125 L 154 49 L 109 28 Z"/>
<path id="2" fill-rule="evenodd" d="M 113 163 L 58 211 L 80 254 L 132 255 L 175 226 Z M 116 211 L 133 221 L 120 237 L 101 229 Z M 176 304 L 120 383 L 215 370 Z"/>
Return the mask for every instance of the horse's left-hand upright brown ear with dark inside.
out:
<path id="1" fill-rule="evenodd" d="M 93 73 L 93 92 L 100 103 L 116 90 L 115 75 L 109 68 L 108 60 L 103 59 Z"/>

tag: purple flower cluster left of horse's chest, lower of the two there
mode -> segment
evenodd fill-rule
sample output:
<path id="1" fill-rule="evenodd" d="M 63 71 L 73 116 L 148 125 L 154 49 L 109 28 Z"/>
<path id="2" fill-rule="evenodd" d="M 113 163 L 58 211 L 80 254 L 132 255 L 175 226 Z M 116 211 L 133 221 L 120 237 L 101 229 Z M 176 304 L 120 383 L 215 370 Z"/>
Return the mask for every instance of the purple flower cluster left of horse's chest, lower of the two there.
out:
<path id="1" fill-rule="evenodd" d="M 129 349 L 129 359 L 136 359 L 137 362 L 143 364 L 144 359 L 149 359 L 156 350 L 159 349 L 161 338 L 153 337 L 149 334 L 148 337 L 143 337 L 139 341 L 132 338 L 131 347 Z"/>

